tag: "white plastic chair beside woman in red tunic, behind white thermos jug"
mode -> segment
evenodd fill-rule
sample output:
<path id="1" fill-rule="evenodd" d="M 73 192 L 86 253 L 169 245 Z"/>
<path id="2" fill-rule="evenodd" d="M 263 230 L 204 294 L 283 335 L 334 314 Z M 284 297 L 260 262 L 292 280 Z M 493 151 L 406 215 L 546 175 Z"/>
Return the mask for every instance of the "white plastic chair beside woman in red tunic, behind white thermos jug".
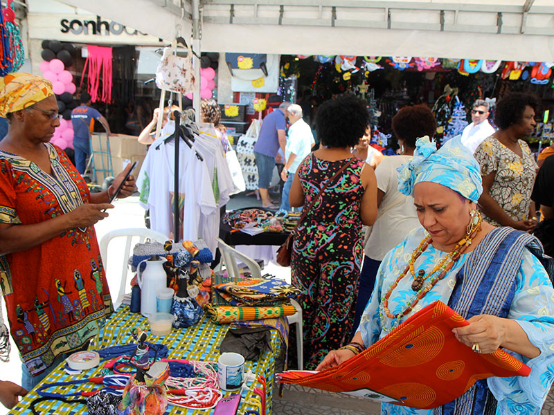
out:
<path id="1" fill-rule="evenodd" d="M 125 228 L 125 229 L 116 229 L 105 234 L 102 239 L 100 239 L 100 255 L 102 256 L 102 262 L 104 263 L 104 269 L 107 270 L 107 257 L 108 257 L 108 245 L 110 241 L 114 238 L 126 237 L 125 240 L 125 250 L 123 252 L 117 252 L 117 255 L 123 257 L 123 266 L 121 268 L 121 277 L 119 282 L 119 291 L 117 299 L 114 302 L 114 308 L 118 308 L 123 302 L 123 295 L 125 295 L 125 288 L 127 286 L 127 260 L 131 255 L 131 241 L 133 238 L 138 238 L 135 243 L 143 243 L 145 239 L 150 239 L 151 241 L 156 241 L 164 243 L 169 238 L 166 235 L 156 232 L 155 230 L 146 229 L 146 228 Z M 134 246 L 134 245 L 133 245 Z M 114 253 L 114 252 L 112 252 Z M 113 295 L 112 295 L 113 300 Z"/>

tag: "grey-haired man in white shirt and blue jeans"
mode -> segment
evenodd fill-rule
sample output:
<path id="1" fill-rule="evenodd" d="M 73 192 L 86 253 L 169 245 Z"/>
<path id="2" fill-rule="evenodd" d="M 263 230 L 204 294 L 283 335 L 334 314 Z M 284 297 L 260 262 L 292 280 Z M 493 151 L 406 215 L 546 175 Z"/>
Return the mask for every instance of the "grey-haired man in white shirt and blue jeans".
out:
<path id="1" fill-rule="evenodd" d="M 287 108 L 289 122 L 289 136 L 285 146 L 285 167 L 281 172 L 281 178 L 285 181 L 283 195 L 281 196 L 280 210 L 289 212 L 289 191 L 296 169 L 302 160 L 310 154 L 315 144 L 314 135 L 310 126 L 302 119 L 302 107 L 292 104 Z"/>

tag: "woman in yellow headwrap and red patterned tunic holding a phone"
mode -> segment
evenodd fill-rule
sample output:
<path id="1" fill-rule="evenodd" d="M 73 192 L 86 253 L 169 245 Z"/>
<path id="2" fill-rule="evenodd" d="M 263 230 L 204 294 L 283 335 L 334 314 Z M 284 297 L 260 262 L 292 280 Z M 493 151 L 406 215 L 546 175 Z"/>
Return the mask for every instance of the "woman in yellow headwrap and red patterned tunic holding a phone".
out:
<path id="1" fill-rule="evenodd" d="M 123 173 L 108 190 L 89 192 L 64 151 L 50 143 L 60 120 L 52 84 L 42 77 L 1 78 L 0 116 L 10 124 L 0 142 L 0 286 L 24 362 L 22 386 L 31 389 L 62 353 L 86 346 L 112 311 L 93 225 L 113 208 L 109 196 Z M 134 189 L 129 177 L 120 194 Z M 100 270 L 102 291 L 85 279 L 91 306 L 83 308 L 71 290 L 73 273 L 89 275 L 91 267 Z M 44 306 L 37 310 L 35 304 Z M 39 311 L 48 315 L 48 326 Z"/>

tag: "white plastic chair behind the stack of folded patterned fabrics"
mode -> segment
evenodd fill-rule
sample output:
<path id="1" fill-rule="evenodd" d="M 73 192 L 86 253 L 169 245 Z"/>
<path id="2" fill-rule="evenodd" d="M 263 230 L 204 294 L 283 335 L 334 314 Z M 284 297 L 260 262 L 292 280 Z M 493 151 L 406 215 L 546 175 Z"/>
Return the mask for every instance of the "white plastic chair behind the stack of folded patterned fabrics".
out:
<path id="1" fill-rule="evenodd" d="M 217 238 L 217 248 L 220 248 L 221 256 L 227 270 L 227 275 L 232 278 L 240 277 L 238 261 L 241 261 L 246 265 L 252 278 L 260 279 L 262 277 L 262 268 L 260 265 L 242 252 L 231 248 L 222 239 Z M 304 367 L 304 348 L 303 348 L 303 333 L 302 333 L 302 307 L 294 299 L 290 300 L 291 304 L 296 308 L 296 313 L 288 315 L 287 320 L 290 324 L 296 324 L 296 353 L 298 354 L 298 369 L 302 370 Z"/>

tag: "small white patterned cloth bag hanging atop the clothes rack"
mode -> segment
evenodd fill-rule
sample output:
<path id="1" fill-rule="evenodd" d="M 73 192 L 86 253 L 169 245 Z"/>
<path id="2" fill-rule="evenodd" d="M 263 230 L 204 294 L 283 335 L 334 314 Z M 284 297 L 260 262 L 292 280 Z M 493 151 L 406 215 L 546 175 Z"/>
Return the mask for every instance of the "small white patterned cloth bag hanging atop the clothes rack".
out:
<path id="1" fill-rule="evenodd" d="M 189 42 L 190 43 L 190 42 Z M 188 46 L 188 55 L 180 57 L 173 53 L 175 44 L 163 48 L 161 61 L 156 69 L 156 85 L 159 89 L 185 95 L 196 88 L 193 70 L 193 50 Z"/>

